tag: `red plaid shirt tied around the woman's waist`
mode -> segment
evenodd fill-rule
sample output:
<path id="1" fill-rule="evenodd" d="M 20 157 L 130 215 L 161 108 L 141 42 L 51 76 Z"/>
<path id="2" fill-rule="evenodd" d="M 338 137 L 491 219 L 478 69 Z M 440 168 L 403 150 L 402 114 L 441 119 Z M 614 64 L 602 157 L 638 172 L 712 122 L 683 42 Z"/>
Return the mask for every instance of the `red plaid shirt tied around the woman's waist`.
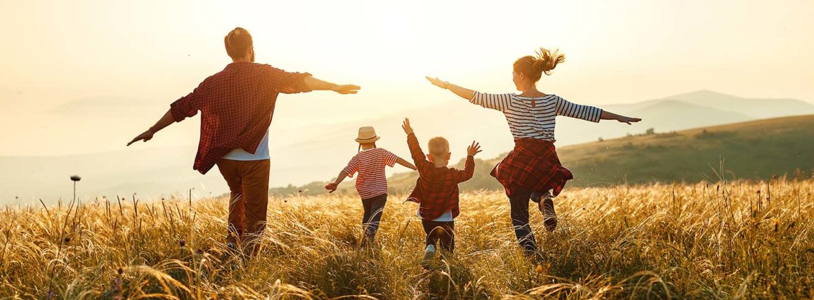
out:
<path id="1" fill-rule="evenodd" d="M 562 167 L 554 142 L 534 138 L 514 140 L 514 150 L 497 163 L 491 175 L 503 185 L 509 197 L 519 187 L 537 191 L 554 189 L 553 194 L 557 196 L 566 182 L 574 179 L 571 171 Z"/>

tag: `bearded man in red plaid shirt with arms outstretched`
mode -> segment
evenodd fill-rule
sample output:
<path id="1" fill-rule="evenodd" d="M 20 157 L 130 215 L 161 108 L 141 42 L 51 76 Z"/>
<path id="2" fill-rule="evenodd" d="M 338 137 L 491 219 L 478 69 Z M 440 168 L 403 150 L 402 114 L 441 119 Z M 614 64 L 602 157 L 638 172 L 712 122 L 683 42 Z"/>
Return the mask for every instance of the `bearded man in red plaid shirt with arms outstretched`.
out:
<path id="1" fill-rule="evenodd" d="M 201 133 L 194 169 L 202 174 L 217 164 L 229 185 L 228 246 L 251 243 L 265 230 L 269 202 L 269 124 L 278 93 L 332 90 L 357 93 L 357 85 L 335 85 L 309 73 L 284 72 L 254 63 L 252 35 L 234 28 L 224 37 L 232 59 L 223 71 L 209 76 L 186 97 L 170 104 L 169 111 L 146 132 L 133 138 L 150 141 L 174 122 L 201 111 Z M 256 245 L 256 243 L 251 243 Z M 256 246 L 252 246 L 252 251 Z"/>

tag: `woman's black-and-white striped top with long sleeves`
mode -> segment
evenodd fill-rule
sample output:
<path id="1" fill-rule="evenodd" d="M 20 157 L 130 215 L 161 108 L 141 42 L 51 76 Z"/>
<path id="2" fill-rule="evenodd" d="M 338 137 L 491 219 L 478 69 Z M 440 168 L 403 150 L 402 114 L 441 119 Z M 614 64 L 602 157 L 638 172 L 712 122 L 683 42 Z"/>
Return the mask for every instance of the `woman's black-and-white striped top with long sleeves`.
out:
<path id="1" fill-rule="evenodd" d="M 555 141 L 554 118 L 556 116 L 565 115 L 599 122 L 602 115 L 600 108 L 571 103 L 554 94 L 531 98 L 514 93 L 475 92 L 470 102 L 503 112 L 514 139 L 530 137 Z"/>

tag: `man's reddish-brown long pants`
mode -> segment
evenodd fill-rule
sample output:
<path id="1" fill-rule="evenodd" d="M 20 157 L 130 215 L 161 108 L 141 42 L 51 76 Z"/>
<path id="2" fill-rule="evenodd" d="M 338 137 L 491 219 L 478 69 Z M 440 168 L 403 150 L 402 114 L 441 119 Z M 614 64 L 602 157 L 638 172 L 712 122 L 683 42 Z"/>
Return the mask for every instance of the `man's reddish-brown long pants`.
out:
<path id="1" fill-rule="evenodd" d="M 263 234 L 269 207 L 269 167 L 269 159 L 217 161 L 217 168 L 231 191 L 230 243 L 249 243 Z"/>

